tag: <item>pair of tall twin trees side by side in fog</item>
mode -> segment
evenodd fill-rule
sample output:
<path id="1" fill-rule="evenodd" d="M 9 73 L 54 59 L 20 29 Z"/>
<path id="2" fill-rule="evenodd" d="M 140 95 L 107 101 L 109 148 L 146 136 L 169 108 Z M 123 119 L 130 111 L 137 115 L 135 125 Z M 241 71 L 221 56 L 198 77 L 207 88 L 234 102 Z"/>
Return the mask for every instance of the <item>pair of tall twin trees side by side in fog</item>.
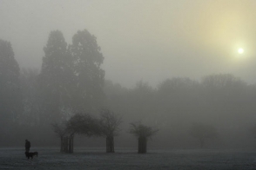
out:
<path id="1" fill-rule="evenodd" d="M 104 57 L 96 37 L 87 30 L 77 31 L 72 44 L 63 34 L 52 31 L 44 47 L 42 70 L 38 75 L 43 119 L 59 121 L 67 114 L 95 112 L 103 103 Z M 49 122 L 49 121 L 46 121 Z"/>

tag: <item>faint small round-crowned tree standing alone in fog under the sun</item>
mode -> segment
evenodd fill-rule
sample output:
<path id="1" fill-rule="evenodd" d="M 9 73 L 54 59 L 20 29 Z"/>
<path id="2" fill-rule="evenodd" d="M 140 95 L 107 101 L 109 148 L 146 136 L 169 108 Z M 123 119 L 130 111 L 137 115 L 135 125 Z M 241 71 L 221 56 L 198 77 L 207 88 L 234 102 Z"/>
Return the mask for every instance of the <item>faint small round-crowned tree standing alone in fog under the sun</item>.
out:
<path id="1" fill-rule="evenodd" d="M 193 123 L 190 133 L 194 138 L 199 140 L 200 147 L 205 146 L 205 140 L 212 140 L 218 135 L 215 127 L 201 122 Z"/>

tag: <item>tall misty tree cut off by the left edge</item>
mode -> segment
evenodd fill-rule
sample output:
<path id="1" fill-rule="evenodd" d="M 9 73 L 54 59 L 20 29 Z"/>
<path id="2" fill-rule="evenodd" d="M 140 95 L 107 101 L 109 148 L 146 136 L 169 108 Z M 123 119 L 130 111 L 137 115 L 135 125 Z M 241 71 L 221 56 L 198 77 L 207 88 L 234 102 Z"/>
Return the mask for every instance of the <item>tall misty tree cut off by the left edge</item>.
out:
<path id="1" fill-rule="evenodd" d="M 0 39 L 0 115 L 4 123 L 16 121 L 23 111 L 19 71 L 10 42 Z"/>

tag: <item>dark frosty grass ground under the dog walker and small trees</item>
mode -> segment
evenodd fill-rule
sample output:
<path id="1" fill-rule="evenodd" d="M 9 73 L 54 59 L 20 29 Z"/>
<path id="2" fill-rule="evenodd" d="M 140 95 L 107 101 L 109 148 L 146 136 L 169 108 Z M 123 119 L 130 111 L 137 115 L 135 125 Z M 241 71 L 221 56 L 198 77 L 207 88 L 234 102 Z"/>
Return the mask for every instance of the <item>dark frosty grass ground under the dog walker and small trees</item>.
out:
<path id="1" fill-rule="evenodd" d="M 54 147 L 31 148 L 38 157 L 25 158 L 24 148 L 0 148 L 0 169 L 256 169 L 256 150 L 116 148 L 115 154 L 102 148 L 75 148 L 74 154 L 61 154 Z"/>

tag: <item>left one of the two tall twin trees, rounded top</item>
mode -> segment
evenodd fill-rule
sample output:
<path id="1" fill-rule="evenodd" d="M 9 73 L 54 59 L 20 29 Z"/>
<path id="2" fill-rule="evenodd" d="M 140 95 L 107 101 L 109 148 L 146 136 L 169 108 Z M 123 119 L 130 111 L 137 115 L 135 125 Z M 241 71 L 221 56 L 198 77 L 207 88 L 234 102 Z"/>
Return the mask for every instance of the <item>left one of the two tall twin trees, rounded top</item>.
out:
<path id="1" fill-rule="evenodd" d="M 61 31 L 51 31 L 44 47 L 43 63 L 39 75 L 42 97 L 41 119 L 64 119 L 61 108 L 70 108 L 71 84 L 73 83 L 71 56 Z M 46 120 L 47 121 L 47 120 Z"/>

